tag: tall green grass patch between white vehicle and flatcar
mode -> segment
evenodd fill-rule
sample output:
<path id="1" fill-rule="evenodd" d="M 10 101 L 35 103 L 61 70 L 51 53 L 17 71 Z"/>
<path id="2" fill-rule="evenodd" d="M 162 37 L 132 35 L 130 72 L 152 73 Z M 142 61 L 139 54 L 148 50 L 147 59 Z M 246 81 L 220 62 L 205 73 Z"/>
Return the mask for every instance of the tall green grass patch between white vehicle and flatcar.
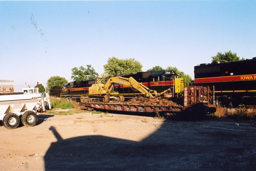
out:
<path id="1" fill-rule="evenodd" d="M 51 98 L 51 107 L 61 108 L 61 109 L 71 109 L 71 108 L 77 107 L 77 102 L 67 101 L 64 98 L 61 98 L 61 99 Z"/>

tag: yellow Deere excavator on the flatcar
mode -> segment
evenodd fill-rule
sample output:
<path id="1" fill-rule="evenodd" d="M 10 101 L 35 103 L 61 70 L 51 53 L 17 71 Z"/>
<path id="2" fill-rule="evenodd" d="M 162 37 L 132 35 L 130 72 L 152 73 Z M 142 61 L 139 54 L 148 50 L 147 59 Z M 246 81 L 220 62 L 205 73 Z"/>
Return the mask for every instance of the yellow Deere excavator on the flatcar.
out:
<path id="1" fill-rule="evenodd" d="M 145 85 L 142 85 L 141 83 L 137 82 L 134 78 L 124 78 L 124 77 L 110 77 L 106 84 L 98 83 L 93 84 L 91 87 L 89 87 L 89 96 L 82 96 L 81 102 L 104 102 L 108 103 L 110 100 L 112 101 L 118 101 L 123 102 L 124 96 L 118 95 L 119 93 L 113 93 L 111 92 L 114 83 L 117 84 L 123 84 L 130 87 L 133 87 L 134 89 L 138 90 L 140 93 L 144 94 L 145 96 L 149 98 L 154 98 L 157 96 L 156 90 L 150 90 Z M 110 95 L 111 94 L 111 95 Z"/>

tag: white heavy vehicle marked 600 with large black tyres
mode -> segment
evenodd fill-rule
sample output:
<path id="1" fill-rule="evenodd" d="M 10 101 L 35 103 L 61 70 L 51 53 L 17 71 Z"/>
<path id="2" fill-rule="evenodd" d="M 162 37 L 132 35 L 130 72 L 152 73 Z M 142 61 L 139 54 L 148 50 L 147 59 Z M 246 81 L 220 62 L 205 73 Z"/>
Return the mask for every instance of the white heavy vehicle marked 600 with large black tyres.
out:
<path id="1" fill-rule="evenodd" d="M 20 121 L 24 126 L 36 125 L 39 112 L 51 108 L 48 93 L 38 88 L 23 88 L 21 93 L 0 93 L 0 122 L 7 129 L 15 129 Z"/>

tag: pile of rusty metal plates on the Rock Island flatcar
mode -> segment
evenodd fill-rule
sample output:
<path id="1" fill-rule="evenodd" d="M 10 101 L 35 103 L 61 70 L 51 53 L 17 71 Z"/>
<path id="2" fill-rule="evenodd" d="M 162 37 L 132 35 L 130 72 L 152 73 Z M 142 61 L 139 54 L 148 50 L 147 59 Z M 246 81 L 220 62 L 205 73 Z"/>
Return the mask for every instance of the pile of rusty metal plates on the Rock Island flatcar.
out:
<path id="1" fill-rule="evenodd" d="M 175 106 L 172 100 L 168 100 L 163 97 L 156 97 L 154 99 L 149 99 L 145 97 L 136 97 L 124 102 L 124 104 L 136 104 L 136 105 L 161 105 L 161 106 Z"/>

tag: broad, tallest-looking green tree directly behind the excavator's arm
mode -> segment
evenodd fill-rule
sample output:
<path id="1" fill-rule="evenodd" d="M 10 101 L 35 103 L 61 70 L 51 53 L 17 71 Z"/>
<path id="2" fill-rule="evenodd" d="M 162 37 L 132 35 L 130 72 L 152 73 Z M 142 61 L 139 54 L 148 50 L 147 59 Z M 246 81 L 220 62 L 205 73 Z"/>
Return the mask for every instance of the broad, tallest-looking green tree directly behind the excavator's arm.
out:
<path id="1" fill-rule="evenodd" d="M 109 57 L 108 63 L 103 67 L 109 76 L 127 75 L 142 71 L 142 64 L 134 58 L 118 59 L 114 56 Z"/>

